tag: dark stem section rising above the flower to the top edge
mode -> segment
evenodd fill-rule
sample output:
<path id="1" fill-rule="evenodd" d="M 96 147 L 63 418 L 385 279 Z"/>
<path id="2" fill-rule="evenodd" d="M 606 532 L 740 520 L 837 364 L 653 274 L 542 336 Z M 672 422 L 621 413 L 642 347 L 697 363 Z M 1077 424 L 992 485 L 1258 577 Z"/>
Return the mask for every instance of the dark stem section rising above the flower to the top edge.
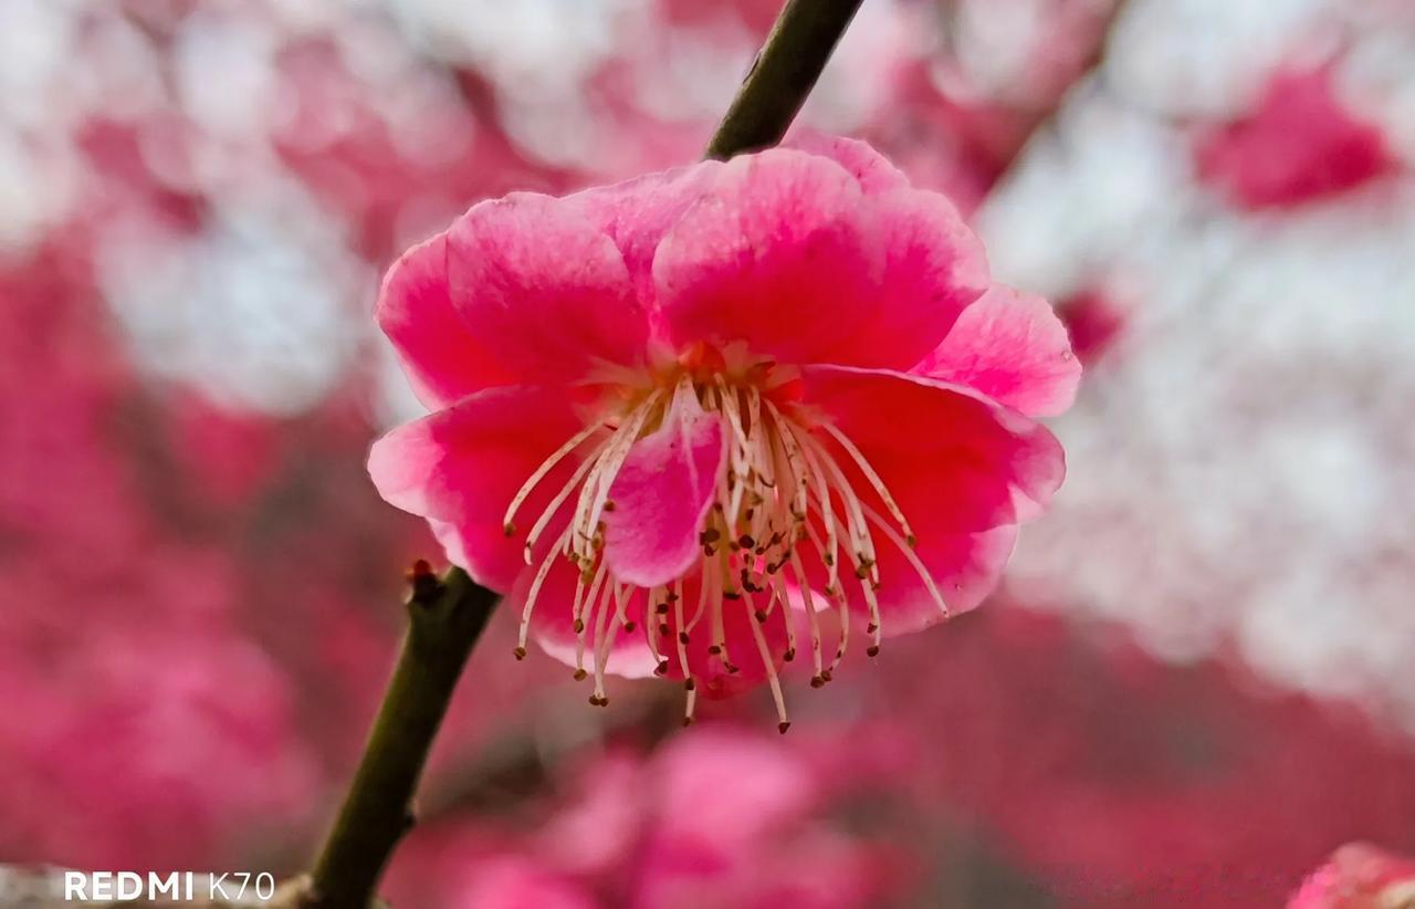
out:
<path id="1" fill-rule="evenodd" d="M 781 142 L 862 1 L 788 0 L 708 143 L 706 157 L 726 161 Z"/>

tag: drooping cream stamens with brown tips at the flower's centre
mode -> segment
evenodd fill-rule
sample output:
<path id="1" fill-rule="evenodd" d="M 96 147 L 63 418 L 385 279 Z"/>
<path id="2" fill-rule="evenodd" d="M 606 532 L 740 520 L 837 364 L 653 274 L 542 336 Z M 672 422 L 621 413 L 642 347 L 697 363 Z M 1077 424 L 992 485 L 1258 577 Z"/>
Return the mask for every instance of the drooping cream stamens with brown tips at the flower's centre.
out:
<path id="1" fill-rule="evenodd" d="M 576 496 L 569 524 L 541 556 L 536 575 L 526 595 L 516 657 L 525 656 L 531 614 L 545 578 L 558 556 L 567 558 L 579 572 L 573 610 L 576 631 L 576 678 L 587 675 L 584 654 L 594 654 L 594 692 L 590 702 L 604 705 L 604 667 L 617 634 L 638 627 L 628 614 L 634 588 L 618 582 L 603 555 L 604 514 L 614 511 L 610 488 L 630 450 L 638 439 L 662 425 L 671 409 L 692 398 L 703 411 L 719 413 L 724 426 L 723 456 L 713 479 L 712 504 L 699 530 L 695 602 L 683 602 L 683 578 L 649 588 L 648 612 L 640 616 L 648 646 L 658 660 L 658 674 L 668 674 L 676 663 L 688 690 L 685 721 L 691 722 L 698 680 L 689 667 L 688 644 L 708 634 L 708 658 L 716 660 L 726 674 L 736 674 L 739 661 L 753 654 L 729 648 L 726 619 L 730 610 L 743 610 L 751 630 L 756 658 L 771 685 L 785 732 L 785 702 L 777 677 L 775 660 L 763 627 L 775 612 L 782 612 L 785 650 L 782 661 L 797 656 L 797 613 L 805 613 L 814 663 L 812 687 L 828 682 L 843 660 L 850 637 L 846 585 L 855 585 L 869 606 L 866 633 L 872 640 L 869 656 L 879 653 L 882 623 L 877 600 L 880 569 L 877 545 L 889 545 L 904 555 L 944 614 L 948 613 L 927 569 L 914 554 L 914 535 L 894 497 L 879 473 L 856 445 L 828 419 L 802 405 L 799 379 L 794 371 L 771 362 L 751 362 L 727 351 L 696 347 L 655 377 L 648 389 L 625 391 L 630 404 L 617 408 L 601 422 L 576 433 L 526 480 L 507 510 L 507 535 L 516 532 L 511 522 L 519 507 L 541 480 L 572 452 L 589 447 L 569 481 L 532 525 L 525 541 L 526 564 L 555 514 Z M 855 481 L 845 464 L 853 466 Z M 873 490 L 872 507 L 856 490 Z M 819 564 L 812 578 L 809 559 Z M 848 571 L 842 576 L 842 565 Z M 824 586 L 819 585 L 824 575 Z M 824 596 L 825 602 L 818 602 Z M 822 653 L 822 610 L 839 614 L 839 639 L 833 657 Z M 676 634 L 672 633 L 676 629 Z M 741 650 L 744 641 L 734 644 Z M 700 668 L 700 667 L 699 667 Z"/>

